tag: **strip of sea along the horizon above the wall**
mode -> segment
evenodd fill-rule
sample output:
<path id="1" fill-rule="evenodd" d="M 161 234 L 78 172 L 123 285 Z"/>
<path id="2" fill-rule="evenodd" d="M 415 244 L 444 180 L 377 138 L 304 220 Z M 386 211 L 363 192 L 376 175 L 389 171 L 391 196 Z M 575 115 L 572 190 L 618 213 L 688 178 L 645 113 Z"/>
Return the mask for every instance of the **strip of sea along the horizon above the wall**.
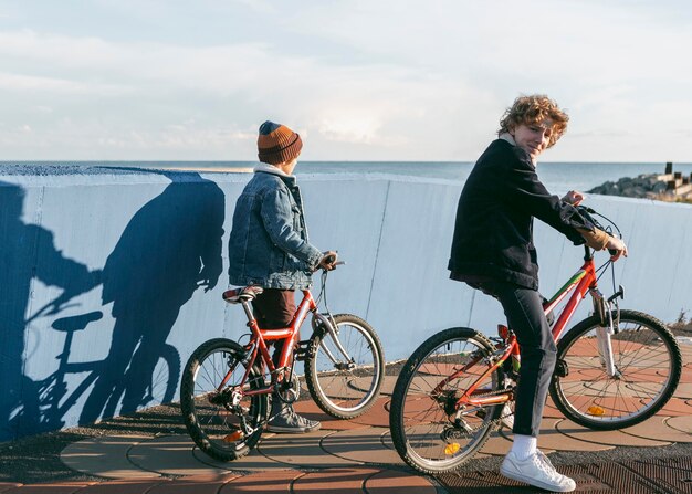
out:
<path id="1" fill-rule="evenodd" d="M 151 168 L 196 171 L 250 172 L 256 166 L 251 161 L 0 161 L 0 170 L 11 170 L 13 166 L 30 167 L 114 167 Z M 466 161 L 300 161 L 295 175 L 314 174 L 378 174 L 406 177 L 434 178 L 465 181 L 473 168 Z M 539 162 L 538 177 L 553 193 L 568 190 L 587 192 L 606 181 L 617 181 L 622 177 L 637 177 L 641 174 L 664 174 L 665 162 Z M 683 176 L 692 174 L 692 162 L 673 164 L 673 171 Z"/>

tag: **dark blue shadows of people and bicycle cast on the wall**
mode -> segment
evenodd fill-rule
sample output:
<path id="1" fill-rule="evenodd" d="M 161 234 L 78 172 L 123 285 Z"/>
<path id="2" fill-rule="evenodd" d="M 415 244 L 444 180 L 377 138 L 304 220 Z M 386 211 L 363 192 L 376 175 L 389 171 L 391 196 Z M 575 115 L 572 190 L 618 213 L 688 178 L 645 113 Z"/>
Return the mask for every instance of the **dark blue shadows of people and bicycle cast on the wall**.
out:
<path id="1" fill-rule="evenodd" d="M 0 398 L 0 424 L 8 424 L 0 440 L 60 429 L 67 412 L 78 413 L 78 423 L 84 424 L 174 398 L 180 357 L 166 340 L 180 307 L 197 288 L 211 290 L 221 274 L 224 196 L 214 182 L 197 174 L 161 174 L 171 183 L 129 220 L 103 272 L 88 272 L 83 264 L 64 259 L 48 230 L 21 223 L 23 191 L 17 186 L 0 187 L 0 275 L 3 281 L 12 280 L 0 288 L 0 317 L 12 328 L 3 328 L 0 336 L 0 370 L 13 390 Z M 9 211 L 12 203 L 14 212 Z M 115 319 L 103 361 L 69 362 L 74 332 L 102 316 L 94 311 L 53 323 L 53 329 L 66 333 L 64 347 L 56 349 L 62 353 L 56 355 L 60 365 L 53 375 L 40 382 L 23 376 L 29 323 L 24 314 L 33 276 L 64 292 L 32 318 L 56 314 L 70 298 L 103 283 L 103 304 L 113 303 Z M 84 380 L 66 396 L 65 375 L 85 371 Z M 82 410 L 71 410 L 88 389 Z"/>

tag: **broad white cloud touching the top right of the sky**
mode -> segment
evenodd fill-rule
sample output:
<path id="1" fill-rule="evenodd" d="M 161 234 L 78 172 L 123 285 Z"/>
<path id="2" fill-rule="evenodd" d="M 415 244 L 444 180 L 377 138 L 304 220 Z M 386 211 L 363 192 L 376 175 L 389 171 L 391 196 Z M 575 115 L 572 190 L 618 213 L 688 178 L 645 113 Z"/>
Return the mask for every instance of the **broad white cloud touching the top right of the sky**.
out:
<path id="1" fill-rule="evenodd" d="M 668 3 L 668 2 L 664 2 Z M 664 3 L 439 0 L 349 0 L 314 3 L 286 24 L 381 56 L 443 73 L 469 69 L 542 77 L 576 75 L 586 81 L 659 77 L 663 67 L 689 77 L 692 62 L 679 49 L 692 45 L 689 23 L 660 19 Z M 686 8 L 688 18 L 692 9 Z M 386 20 L 386 22 L 384 22 Z M 675 64 L 671 65 L 673 59 Z"/>

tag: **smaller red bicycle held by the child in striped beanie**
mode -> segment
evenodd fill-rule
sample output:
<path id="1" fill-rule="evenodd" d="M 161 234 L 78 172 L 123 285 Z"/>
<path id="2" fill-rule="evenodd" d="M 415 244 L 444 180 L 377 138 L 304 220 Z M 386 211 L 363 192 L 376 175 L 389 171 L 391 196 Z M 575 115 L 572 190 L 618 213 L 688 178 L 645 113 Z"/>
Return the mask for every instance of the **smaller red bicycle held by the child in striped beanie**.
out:
<path id="1" fill-rule="evenodd" d="M 336 264 L 343 264 L 338 262 Z M 247 455 L 260 440 L 274 390 L 294 402 L 301 390 L 295 362 L 305 362 L 305 382 L 317 406 L 332 417 L 350 419 L 375 404 L 385 375 L 381 343 L 368 323 L 350 314 L 332 315 L 326 303 L 327 271 L 317 299 L 303 291 L 291 326 L 262 329 L 251 302 L 259 286 L 229 290 L 223 299 L 241 304 L 248 317 L 249 341 L 214 338 L 197 348 L 182 372 L 180 408 L 188 432 L 208 455 L 231 461 Z M 318 311 L 324 301 L 325 312 Z M 312 313 L 313 335 L 300 340 L 300 328 Z M 268 344 L 285 341 L 274 366 Z"/>

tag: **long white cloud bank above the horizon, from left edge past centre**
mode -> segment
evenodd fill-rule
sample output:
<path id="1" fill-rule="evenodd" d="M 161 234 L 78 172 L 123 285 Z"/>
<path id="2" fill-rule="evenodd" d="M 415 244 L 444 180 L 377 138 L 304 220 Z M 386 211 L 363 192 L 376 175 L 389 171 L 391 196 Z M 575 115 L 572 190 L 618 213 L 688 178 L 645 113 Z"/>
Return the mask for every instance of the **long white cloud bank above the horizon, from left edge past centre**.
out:
<path id="1" fill-rule="evenodd" d="M 53 71 L 64 73 L 64 77 L 81 80 L 83 74 L 90 73 L 115 82 L 90 85 L 69 78 L 8 75 L 4 77 L 7 88 L 93 94 L 130 88 L 128 98 L 177 97 L 176 104 L 182 106 L 186 101 L 181 95 L 186 94 L 189 97 L 209 93 L 208 97 L 229 101 L 249 97 L 258 115 L 272 113 L 303 126 L 307 134 L 312 130 L 317 138 L 316 150 L 322 141 L 340 141 L 381 146 L 397 156 L 408 156 L 407 144 L 415 143 L 415 149 L 420 149 L 420 145 L 418 138 L 409 135 L 419 130 L 413 130 L 407 122 L 430 118 L 432 108 L 449 107 L 463 99 L 466 102 L 460 103 L 462 106 L 487 101 L 483 91 L 464 87 L 463 81 L 428 76 L 388 63 L 325 66 L 318 57 L 284 55 L 277 53 L 275 46 L 259 43 L 186 48 L 22 31 L 2 33 L 0 46 L 0 54 L 4 56 L 50 64 Z M 2 82 L 0 76 L 0 86 Z M 208 149 L 213 150 L 223 141 L 213 136 L 221 133 L 190 130 L 190 137 L 186 138 L 168 129 L 150 130 L 147 139 L 139 138 L 140 134 L 122 133 L 116 140 L 96 140 L 112 146 L 117 143 L 125 146 L 129 141 L 135 147 L 149 143 L 161 149 L 198 147 L 195 143 L 207 143 Z M 402 146 L 401 149 L 397 149 L 398 146 Z M 328 157 L 319 151 L 315 156 Z"/>

